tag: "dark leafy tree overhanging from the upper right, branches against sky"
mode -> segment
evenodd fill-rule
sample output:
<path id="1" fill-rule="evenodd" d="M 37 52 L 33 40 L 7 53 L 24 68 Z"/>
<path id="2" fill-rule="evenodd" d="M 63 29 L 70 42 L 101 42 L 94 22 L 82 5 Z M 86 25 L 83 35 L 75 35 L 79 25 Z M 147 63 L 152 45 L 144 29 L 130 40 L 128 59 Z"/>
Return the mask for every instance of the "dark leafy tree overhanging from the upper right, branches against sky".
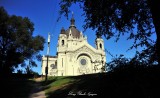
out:
<path id="1" fill-rule="evenodd" d="M 131 47 L 151 47 L 156 51 L 152 57 L 160 65 L 160 9 L 158 0 L 62 0 L 60 14 L 68 17 L 69 7 L 79 3 L 85 16 L 84 29 L 92 28 L 97 35 L 107 39 L 129 33 L 127 39 L 134 39 Z M 116 32 L 115 32 L 116 31 Z M 154 42 L 150 39 L 156 33 Z"/>

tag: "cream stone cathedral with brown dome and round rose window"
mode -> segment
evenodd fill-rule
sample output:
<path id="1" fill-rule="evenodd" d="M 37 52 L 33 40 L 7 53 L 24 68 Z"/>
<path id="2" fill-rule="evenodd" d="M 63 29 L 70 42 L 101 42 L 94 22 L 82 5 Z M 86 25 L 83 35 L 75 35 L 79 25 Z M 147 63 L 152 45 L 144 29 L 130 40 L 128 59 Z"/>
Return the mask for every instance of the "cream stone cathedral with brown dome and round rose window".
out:
<path id="1" fill-rule="evenodd" d="M 91 46 L 87 37 L 76 28 L 73 16 L 70 22 L 67 30 L 62 28 L 60 31 L 56 56 L 42 57 L 42 75 L 77 76 L 104 71 L 106 54 L 103 39 L 97 37 L 96 47 Z"/>

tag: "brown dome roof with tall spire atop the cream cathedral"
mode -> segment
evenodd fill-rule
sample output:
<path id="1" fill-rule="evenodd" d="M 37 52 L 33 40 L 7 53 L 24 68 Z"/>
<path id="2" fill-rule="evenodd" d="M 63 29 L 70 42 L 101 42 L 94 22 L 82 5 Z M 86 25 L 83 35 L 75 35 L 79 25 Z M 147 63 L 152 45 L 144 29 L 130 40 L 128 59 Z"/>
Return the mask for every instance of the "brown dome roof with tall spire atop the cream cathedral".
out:
<path id="1" fill-rule="evenodd" d="M 70 25 L 69 29 L 67 29 L 65 31 L 64 28 L 62 28 L 61 29 L 61 34 L 66 34 L 67 37 L 69 37 L 69 35 L 71 33 L 73 38 L 80 38 L 80 31 L 78 29 L 76 29 L 75 19 L 73 18 L 73 15 L 72 15 L 72 18 L 71 18 L 70 22 L 71 22 L 71 25 Z"/>

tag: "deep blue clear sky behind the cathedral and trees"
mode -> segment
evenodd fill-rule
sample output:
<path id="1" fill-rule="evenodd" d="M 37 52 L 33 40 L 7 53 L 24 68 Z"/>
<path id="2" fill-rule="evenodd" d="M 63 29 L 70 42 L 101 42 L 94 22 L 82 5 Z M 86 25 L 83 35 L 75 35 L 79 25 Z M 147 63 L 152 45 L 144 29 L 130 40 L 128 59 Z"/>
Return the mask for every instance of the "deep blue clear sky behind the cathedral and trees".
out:
<path id="1" fill-rule="evenodd" d="M 71 14 L 69 14 L 69 20 L 62 16 L 57 22 L 59 17 L 59 1 L 60 0 L 0 0 L 0 6 L 3 6 L 9 15 L 17 15 L 22 17 L 28 17 L 30 21 L 34 23 L 33 36 L 41 35 L 46 39 L 48 38 L 48 32 L 50 32 L 50 53 L 49 55 L 56 55 L 57 42 L 60 30 L 62 27 L 68 29 L 70 26 Z M 73 5 L 70 10 L 74 13 L 75 25 L 78 30 L 83 31 L 83 24 L 85 17 L 81 16 L 83 11 L 78 5 Z M 87 29 L 83 32 L 88 38 L 88 43 L 95 47 L 95 31 Z M 116 43 L 115 38 L 106 40 L 104 38 L 104 47 L 113 56 L 123 54 L 125 57 L 131 58 L 135 55 L 135 49 L 127 51 L 133 44 L 133 40 L 126 40 L 127 35 L 124 35 Z M 44 44 L 44 50 L 41 51 L 41 55 L 47 54 L 47 43 Z M 106 52 L 106 61 L 112 60 L 112 56 Z M 36 61 L 37 67 L 33 70 L 41 74 L 41 62 Z"/>

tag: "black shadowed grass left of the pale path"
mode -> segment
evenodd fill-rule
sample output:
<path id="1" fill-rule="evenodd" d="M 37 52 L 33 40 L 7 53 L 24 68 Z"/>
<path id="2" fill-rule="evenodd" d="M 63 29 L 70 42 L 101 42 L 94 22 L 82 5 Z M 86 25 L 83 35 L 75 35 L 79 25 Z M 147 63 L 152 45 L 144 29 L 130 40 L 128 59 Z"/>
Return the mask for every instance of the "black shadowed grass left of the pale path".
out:
<path id="1" fill-rule="evenodd" d="M 34 83 L 32 79 L 1 81 L 1 98 L 29 98 Z"/>

